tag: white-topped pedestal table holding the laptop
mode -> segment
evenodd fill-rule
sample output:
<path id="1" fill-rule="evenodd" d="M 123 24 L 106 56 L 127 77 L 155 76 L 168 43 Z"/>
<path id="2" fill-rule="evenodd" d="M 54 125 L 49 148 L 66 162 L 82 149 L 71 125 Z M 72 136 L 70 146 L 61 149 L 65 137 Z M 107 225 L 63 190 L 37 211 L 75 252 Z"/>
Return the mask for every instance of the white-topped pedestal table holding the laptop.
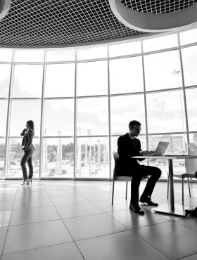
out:
<path id="1" fill-rule="evenodd" d="M 156 213 L 163 213 L 174 216 L 185 216 L 185 209 L 189 209 L 188 207 L 184 207 L 180 204 L 174 205 L 174 179 L 173 179 L 173 160 L 179 159 L 196 159 L 197 155 L 163 155 L 163 156 L 153 156 L 153 155 L 139 155 L 133 156 L 135 159 L 167 159 L 168 167 L 169 167 L 169 180 L 170 180 L 170 204 L 165 203 L 161 204 L 157 209 L 154 209 Z"/>

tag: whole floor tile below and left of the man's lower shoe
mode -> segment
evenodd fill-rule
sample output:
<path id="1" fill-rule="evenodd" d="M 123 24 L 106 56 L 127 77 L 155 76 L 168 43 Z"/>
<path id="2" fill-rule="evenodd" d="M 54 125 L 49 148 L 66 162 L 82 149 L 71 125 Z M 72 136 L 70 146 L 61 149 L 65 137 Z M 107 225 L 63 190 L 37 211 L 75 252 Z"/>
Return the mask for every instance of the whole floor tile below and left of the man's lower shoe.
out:
<path id="1" fill-rule="evenodd" d="M 108 214 L 81 216 L 74 219 L 63 219 L 74 240 L 94 238 L 127 230 Z"/>

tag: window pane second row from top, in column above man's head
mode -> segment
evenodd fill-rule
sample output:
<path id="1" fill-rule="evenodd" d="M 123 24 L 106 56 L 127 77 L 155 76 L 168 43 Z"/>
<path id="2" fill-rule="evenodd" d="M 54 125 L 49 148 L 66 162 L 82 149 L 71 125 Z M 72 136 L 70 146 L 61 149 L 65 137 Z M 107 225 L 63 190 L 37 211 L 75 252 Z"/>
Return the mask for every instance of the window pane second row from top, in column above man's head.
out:
<path id="1" fill-rule="evenodd" d="M 144 91 L 140 57 L 110 60 L 110 94 Z"/>

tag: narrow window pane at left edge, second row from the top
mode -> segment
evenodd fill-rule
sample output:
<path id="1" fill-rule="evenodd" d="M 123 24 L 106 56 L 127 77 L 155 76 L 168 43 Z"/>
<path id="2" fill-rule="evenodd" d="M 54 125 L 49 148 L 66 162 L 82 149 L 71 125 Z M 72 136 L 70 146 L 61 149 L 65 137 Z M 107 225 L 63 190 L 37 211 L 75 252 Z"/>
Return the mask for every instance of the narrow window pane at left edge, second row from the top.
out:
<path id="1" fill-rule="evenodd" d="M 0 64 L 0 98 L 8 98 L 11 77 L 11 65 Z"/>

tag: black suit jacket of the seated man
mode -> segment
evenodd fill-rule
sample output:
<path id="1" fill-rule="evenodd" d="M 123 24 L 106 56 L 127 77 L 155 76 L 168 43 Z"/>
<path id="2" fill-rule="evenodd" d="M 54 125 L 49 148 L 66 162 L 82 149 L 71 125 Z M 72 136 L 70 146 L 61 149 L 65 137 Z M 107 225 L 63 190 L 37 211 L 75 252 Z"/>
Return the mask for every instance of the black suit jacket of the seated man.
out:
<path id="1" fill-rule="evenodd" d="M 117 139 L 117 152 L 119 154 L 118 175 L 132 176 L 132 170 L 139 167 L 140 164 L 137 162 L 137 159 L 131 159 L 131 157 L 139 155 L 139 151 L 141 151 L 139 139 L 134 138 L 133 142 L 128 133 Z"/>

